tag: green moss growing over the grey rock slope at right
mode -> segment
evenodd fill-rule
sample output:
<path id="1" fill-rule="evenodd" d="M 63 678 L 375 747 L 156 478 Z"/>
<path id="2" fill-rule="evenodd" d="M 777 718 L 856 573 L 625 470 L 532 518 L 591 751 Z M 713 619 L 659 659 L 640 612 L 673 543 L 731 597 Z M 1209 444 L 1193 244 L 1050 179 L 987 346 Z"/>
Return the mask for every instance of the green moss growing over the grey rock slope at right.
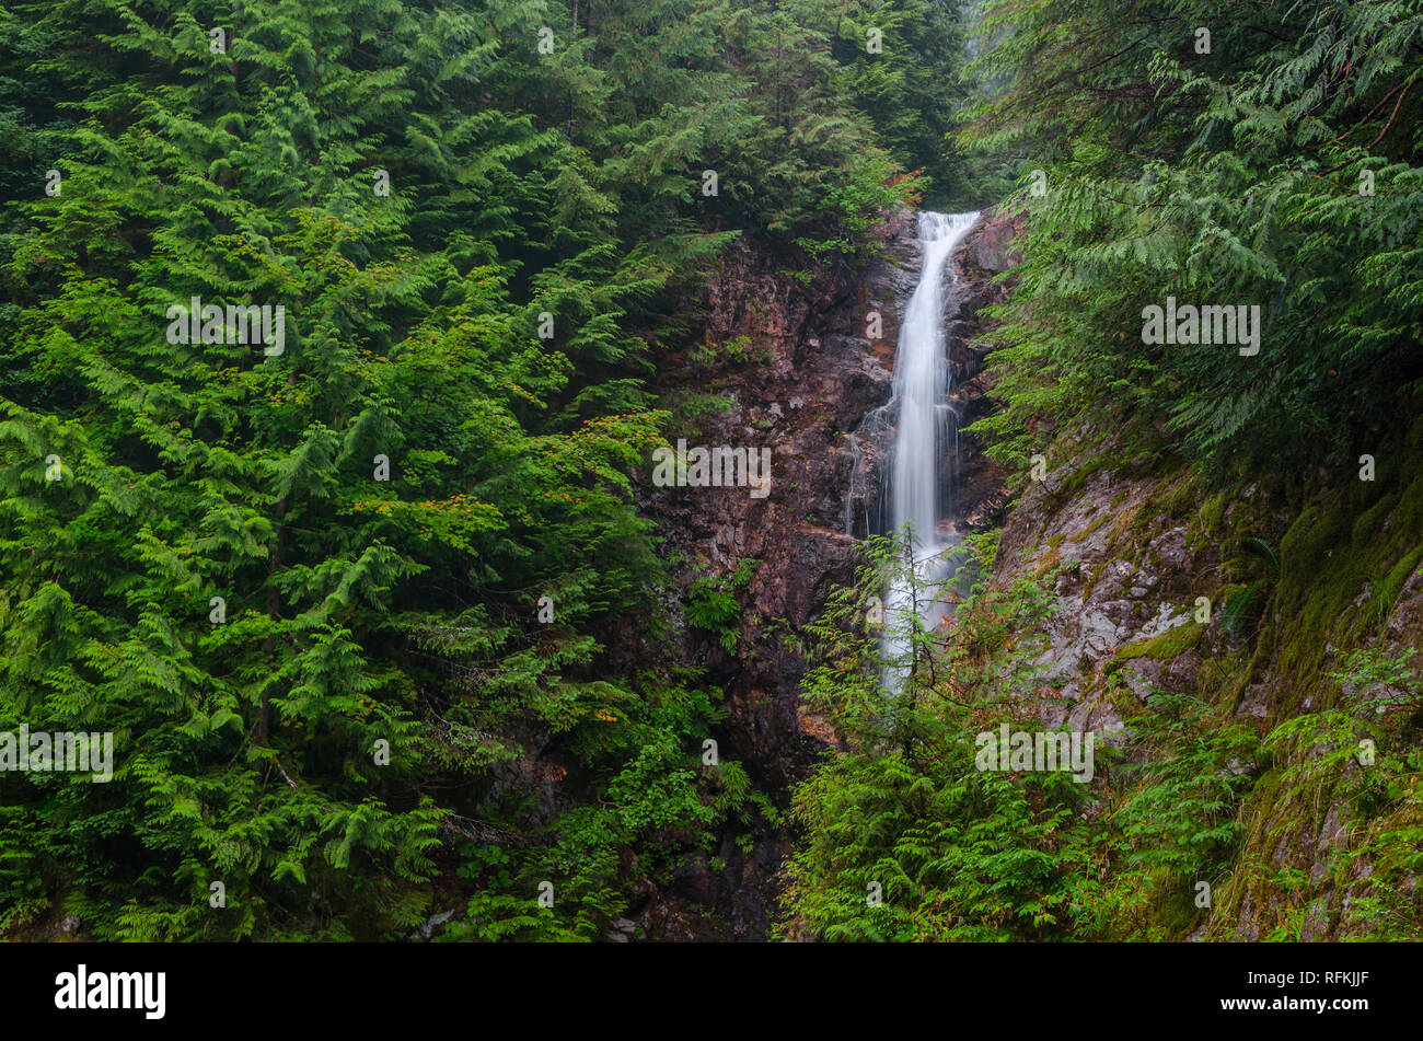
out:
<path id="1" fill-rule="evenodd" d="M 1117 465 L 1110 457 L 1120 455 L 1124 444 L 1117 431 L 1109 444 L 1074 452 L 1084 465 L 1064 482 L 1063 491 L 1081 488 L 1093 474 Z M 1349 722 L 1352 711 L 1328 711 L 1343 698 L 1331 673 L 1340 668 L 1352 650 L 1373 644 L 1405 583 L 1423 566 L 1423 418 L 1412 424 L 1407 435 L 1375 451 L 1380 459 L 1377 482 L 1362 482 L 1352 466 L 1340 466 L 1323 485 L 1306 479 L 1289 489 L 1289 495 L 1311 496 L 1292 522 L 1279 512 L 1286 492 L 1259 474 L 1235 471 L 1232 484 L 1214 484 L 1218 491 L 1197 501 L 1201 478 L 1184 474 L 1170 458 L 1153 461 L 1150 485 L 1134 484 L 1111 495 L 1110 508 L 1101 511 L 1110 518 L 1110 545 L 1100 560 L 1081 567 L 1084 576 L 1090 572 L 1087 589 L 1094 589 L 1114 562 L 1140 559 L 1150 542 L 1146 536 L 1161 515 L 1194 515 L 1185 520 L 1188 540 L 1198 540 L 1207 556 L 1195 562 L 1191 587 L 1202 593 L 1214 589 L 1212 604 L 1220 612 L 1232 593 L 1238 596 L 1254 586 L 1261 613 L 1244 647 L 1229 640 L 1220 623 L 1201 624 L 1194 619 L 1127 644 L 1104 663 L 1100 685 L 1110 688 L 1118 670 L 1130 667 L 1133 660 L 1168 663 L 1195 648 L 1202 660 L 1194 694 L 1220 720 L 1268 731 L 1269 724 L 1262 720 L 1235 715 L 1245 688 L 1266 684 L 1271 724 L 1301 715 Z M 1271 485 L 1275 493 L 1262 489 L 1247 495 L 1251 484 Z M 1066 498 L 1060 492 L 1047 501 L 1047 509 Z M 1049 542 L 1054 557 L 1059 548 L 1072 553 L 1073 542 L 1099 530 L 1104 520 L 1093 515 L 1083 523 L 1081 532 Z M 1252 539 L 1278 548 L 1278 557 L 1252 556 L 1242 546 Z M 1360 596 L 1370 589 L 1372 597 Z M 1227 647 L 1237 650 L 1225 653 Z M 1192 740 L 1204 734 L 1192 724 Z M 1389 795 L 1392 802 L 1385 799 L 1380 809 L 1370 809 L 1355 792 L 1359 776 L 1309 765 L 1318 745 L 1301 740 L 1251 754 L 1261 772 L 1254 774 L 1244 802 L 1235 808 L 1232 823 L 1239 828 L 1238 839 L 1232 852 L 1222 853 L 1229 863 L 1220 865 L 1218 872 L 1212 865 L 1212 875 L 1201 876 L 1212 882 L 1212 912 L 1198 914 L 1188 889 L 1180 890 L 1187 899 L 1178 899 L 1178 879 L 1157 872 L 1117 876 L 1120 889 L 1114 897 L 1123 902 L 1124 917 L 1109 923 L 1107 931 L 1126 929 L 1136 936 L 1181 939 L 1208 923 L 1207 939 L 1238 939 L 1241 930 L 1251 929 L 1258 930 L 1259 939 L 1298 937 L 1308 926 L 1311 909 L 1319 904 L 1331 919 L 1323 934 L 1332 939 L 1360 929 L 1365 934 L 1392 937 L 1375 924 L 1386 917 L 1380 910 L 1403 923 L 1400 929 L 1406 933 L 1416 934 L 1417 927 L 1410 923 L 1423 920 L 1419 917 L 1423 887 L 1414 892 L 1402 879 L 1412 869 L 1409 865 L 1416 868 L 1416 850 L 1423 848 L 1419 845 L 1423 806 L 1412 796 Z M 1329 747 L 1342 748 L 1338 742 Z M 1155 751 L 1144 755 L 1151 761 Z M 1369 798 L 1383 799 L 1380 791 L 1369 789 Z M 1350 825 L 1343 848 L 1316 849 L 1323 821 L 1336 805 L 1346 806 L 1356 825 Z M 1385 846 L 1385 840 L 1392 845 Z M 1323 859 L 1329 873 L 1312 880 L 1309 868 L 1316 858 Z M 1375 873 L 1368 880 L 1350 875 L 1356 863 L 1368 863 Z M 1345 896 L 1355 902 L 1353 912 L 1342 907 Z M 1395 903 L 1387 903 L 1395 897 Z"/>

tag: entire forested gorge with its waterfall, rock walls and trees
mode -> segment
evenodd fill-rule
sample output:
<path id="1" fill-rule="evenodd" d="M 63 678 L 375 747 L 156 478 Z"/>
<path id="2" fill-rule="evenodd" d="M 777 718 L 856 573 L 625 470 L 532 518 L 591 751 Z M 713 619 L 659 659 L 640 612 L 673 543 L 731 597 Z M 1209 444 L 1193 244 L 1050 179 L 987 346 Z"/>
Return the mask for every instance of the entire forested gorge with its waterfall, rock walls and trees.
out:
<path id="1" fill-rule="evenodd" d="M 0 936 L 1423 939 L 1414 0 L 0 17 Z"/>

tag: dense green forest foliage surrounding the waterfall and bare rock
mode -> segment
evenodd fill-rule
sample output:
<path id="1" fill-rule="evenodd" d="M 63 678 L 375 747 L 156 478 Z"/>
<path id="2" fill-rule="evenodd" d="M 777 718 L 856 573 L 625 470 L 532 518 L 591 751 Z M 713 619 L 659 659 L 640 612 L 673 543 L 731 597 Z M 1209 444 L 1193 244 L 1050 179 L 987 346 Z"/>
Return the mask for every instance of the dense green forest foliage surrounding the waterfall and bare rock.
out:
<path id="1" fill-rule="evenodd" d="M 1423 560 L 1420 75 L 1409 0 L 11 4 L 0 730 L 114 731 L 117 762 L 0 776 L 0 930 L 396 939 L 454 906 L 441 939 L 598 939 L 636 877 L 773 826 L 785 934 L 1157 937 L 1248 832 L 1231 765 L 1318 784 L 1284 745 L 1363 720 L 1390 765 L 1348 799 L 1387 883 L 1358 907 L 1410 934 L 1423 701 L 1373 636 Z M 976 431 L 1016 486 L 1096 424 L 1191 475 L 1183 509 L 1303 518 L 1232 515 L 1244 671 L 1205 694 L 1282 643 L 1329 734 L 1261 751 L 1202 694 L 1136 722 L 1110 791 L 975 772 L 953 749 L 1032 687 L 1040 594 L 985 580 L 885 712 L 871 546 L 811 634 L 838 752 L 794 798 L 706 768 L 720 690 L 665 647 L 739 606 L 667 610 L 650 381 L 733 240 L 854 272 L 921 203 L 1025 215 Z M 1274 347 L 1143 344 L 1167 293 L 1261 303 Z M 283 306 L 282 353 L 174 344 L 192 297 Z M 529 745 L 575 805 L 529 795 Z"/>

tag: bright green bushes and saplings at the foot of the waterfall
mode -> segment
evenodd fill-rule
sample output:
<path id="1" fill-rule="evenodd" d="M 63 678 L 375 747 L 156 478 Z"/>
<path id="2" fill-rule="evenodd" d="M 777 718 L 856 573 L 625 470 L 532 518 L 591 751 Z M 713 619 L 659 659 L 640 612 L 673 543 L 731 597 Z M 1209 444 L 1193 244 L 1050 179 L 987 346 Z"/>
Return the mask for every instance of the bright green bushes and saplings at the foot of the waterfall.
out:
<path id="1" fill-rule="evenodd" d="M 968 570 L 985 569 L 992 550 L 969 543 Z M 972 670 L 933 653 L 948 640 L 918 614 L 889 613 L 881 629 L 867 612 L 895 576 L 915 600 L 948 596 L 922 567 L 904 563 L 898 540 L 872 539 L 857 586 L 813 627 L 820 663 L 805 695 L 845 747 L 795 792 L 805 842 L 785 866 L 783 927 L 842 940 L 1044 936 L 1069 899 L 1063 866 L 1081 856 L 1059 829 L 1086 794 L 1066 774 L 978 771 L 969 737 L 989 712 L 1012 712 L 1010 691 L 1032 676 L 1035 648 L 1013 633 L 1040 617 L 1042 596 L 973 583 L 952 646 L 993 664 Z M 882 651 L 887 636 L 898 654 Z"/>

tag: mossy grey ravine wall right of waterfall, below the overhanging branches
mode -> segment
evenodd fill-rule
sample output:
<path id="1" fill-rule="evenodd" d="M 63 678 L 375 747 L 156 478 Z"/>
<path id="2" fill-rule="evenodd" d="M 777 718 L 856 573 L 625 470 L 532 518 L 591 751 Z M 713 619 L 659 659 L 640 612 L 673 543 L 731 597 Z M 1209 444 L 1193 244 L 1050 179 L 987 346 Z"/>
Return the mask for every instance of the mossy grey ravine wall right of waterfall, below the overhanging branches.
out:
<path id="1" fill-rule="evenodd" d="M 1407 658 L 1423 644 L 1423 421 L 1360 451 L 1380 461 L 1372 481 L 1358 452 L 1309 474 L 1205 479 L 1161 431 L 1097 418 L 1044 437 L 1044 479 L 1003 513 L 993 582 L 1035 576 L 1057 602 L 1036 691 L 1049 725 L 1110 734 L 1127 701 L 1150 708 L 1168 691 L 1261 738 L 1286 722 L 1332 728 L 1231 765 L 1252 781 L 1237 846 L 1175 939 L 1419 934 L 1423 804 L 1393 771 L 1423 741 Z M 1254 612 L 1227 624 L 1247 587 Z M 1412 681 L 1338 678 L 1359 651 Z M 1355 747 L 1366 732 L 1372 764 Z"/>

